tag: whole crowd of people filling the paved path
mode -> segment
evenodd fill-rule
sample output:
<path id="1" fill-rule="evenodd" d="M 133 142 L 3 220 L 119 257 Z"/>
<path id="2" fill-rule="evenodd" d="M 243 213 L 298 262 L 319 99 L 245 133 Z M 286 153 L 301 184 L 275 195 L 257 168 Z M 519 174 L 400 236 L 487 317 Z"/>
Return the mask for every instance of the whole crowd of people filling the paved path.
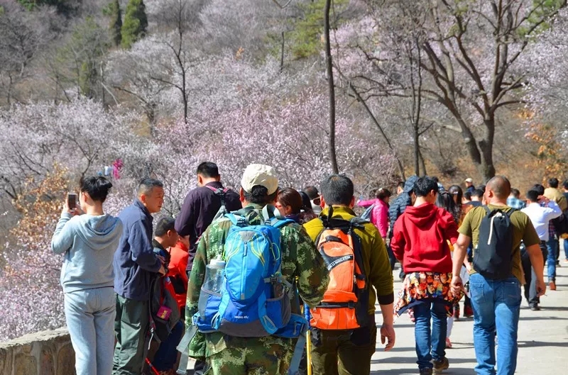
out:
<path id="1" fill-rule="evenodd" d="M 203 162 L 178 216 L 156 219 L 162 182 L 142 179 L 117 217 L 104 213 L 111 186 L 82 179 L 52 240 L 80 375 L 185 374 L 188 356 L 193 374 L 370 374 L 377 338 L 392 349 L 403 313 L 420 375 L 442 374 L 461 298 L 476 374 L 513 375 L 521 286 L 538 310 L 545 260 L 555 290 L 568 237 L 568 180 L 560 191 L 555 178 L 525 201 L 503 176 L 465 189 L 413 176 L 392 201 L 387 187 L 356 200 L 342 174 L 282 188 L 250 164 L 237 191 Z"/>

